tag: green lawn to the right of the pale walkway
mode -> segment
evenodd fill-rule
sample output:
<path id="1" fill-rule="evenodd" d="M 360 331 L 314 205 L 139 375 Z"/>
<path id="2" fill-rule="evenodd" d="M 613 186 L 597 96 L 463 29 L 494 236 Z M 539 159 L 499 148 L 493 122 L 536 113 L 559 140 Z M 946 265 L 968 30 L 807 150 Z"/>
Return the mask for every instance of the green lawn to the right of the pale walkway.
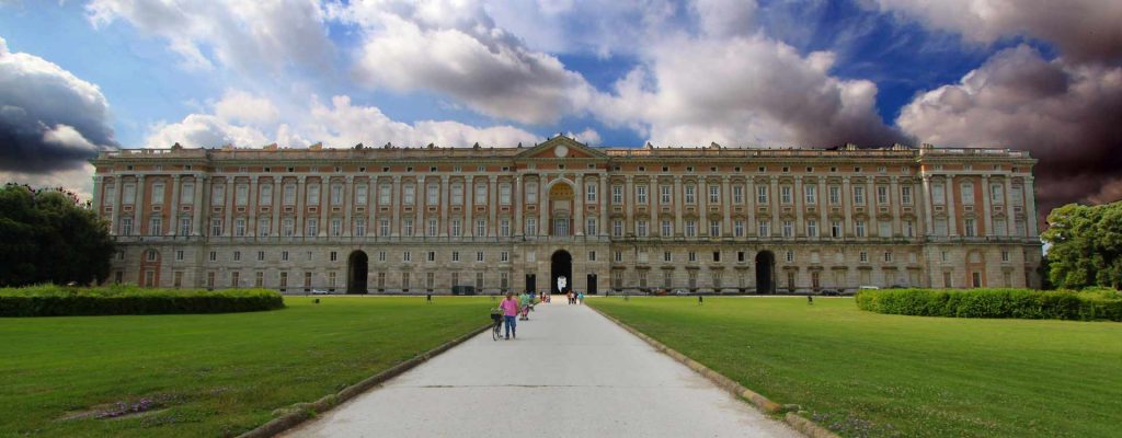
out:
<path id="1" fill-rule="evenodd" d="M 1122 436 L 1122 324 L 880 315 L 852 298 L 588 304 L 843 436 Z"/>

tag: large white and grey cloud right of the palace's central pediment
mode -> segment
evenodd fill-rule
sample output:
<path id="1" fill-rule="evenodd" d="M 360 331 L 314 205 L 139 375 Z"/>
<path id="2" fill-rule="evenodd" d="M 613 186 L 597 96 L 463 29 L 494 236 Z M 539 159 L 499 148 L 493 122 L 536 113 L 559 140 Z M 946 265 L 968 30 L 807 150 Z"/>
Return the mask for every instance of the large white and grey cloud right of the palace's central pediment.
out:
<path id="1" fill-rule="evenodd" d="M 876 85 L 829 75 L 830 53 L 802 56 L 761 35 L 681 38 L 594 105 L 657 145 L 888 146 L 907 139 L 876 114 Z"/>

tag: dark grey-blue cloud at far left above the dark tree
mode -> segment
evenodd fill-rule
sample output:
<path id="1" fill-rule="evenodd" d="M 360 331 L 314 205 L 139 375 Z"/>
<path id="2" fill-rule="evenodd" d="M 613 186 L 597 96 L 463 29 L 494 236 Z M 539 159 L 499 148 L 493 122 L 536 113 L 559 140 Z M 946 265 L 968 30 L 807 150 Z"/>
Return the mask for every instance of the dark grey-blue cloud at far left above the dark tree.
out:
<path id="1" fill-rule="evenodd" d="M 116 147 L 96 85 L 0 38 L 0 170 L 74 169 Z"/>

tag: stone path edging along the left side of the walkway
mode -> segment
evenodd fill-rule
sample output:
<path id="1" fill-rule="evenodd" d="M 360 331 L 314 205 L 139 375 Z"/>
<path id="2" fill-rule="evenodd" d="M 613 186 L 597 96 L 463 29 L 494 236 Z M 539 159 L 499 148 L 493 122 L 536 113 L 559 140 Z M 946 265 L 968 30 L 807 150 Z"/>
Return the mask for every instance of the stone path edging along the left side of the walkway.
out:
<path id="1" fill-rule="evenodd" d="M 440 355 L 441 353 L 444 353 L 451 350 L 452 347 L 462 344 L 463 342 L 479 335 L 480 333 L 490 329 L 491 327 L 494 327 L 494 324 L 488 323 L 482 327 L 472 329 L 471 332 L 468 332 L 467 334 L 460 337 L 457 337 L 452 341 L 441 344 L 440 346 L 433 350 L 413 356 L 397 365 L 390 366 L 389 369 L 386 369 L 380 373 L 366 378 L 359 381 L 358 383 L 343 388 L 339 392 L 324 395 L 311 403 L 296 403 L 287 408 L 280 408 L 280 410 L 284 412 L 283 414 L 245 434 L 239 435 L 238 438 L 267 438 L 279 435 L 280 432 L 292 429 L 306 420 L 323 414 L 324 412 L 342 404 L 343 402 L 350 399 L 361 395 L 362 393 L 369 391 L 374 386 L 377 386 L 386 382 L 387 380 L 394 379 L 401 375 L 402 373 L 405 373 L 406 371 L 410 371 L 416 367 L 417 365 L 427 362 L 430 358 L 433 358 Z"/>

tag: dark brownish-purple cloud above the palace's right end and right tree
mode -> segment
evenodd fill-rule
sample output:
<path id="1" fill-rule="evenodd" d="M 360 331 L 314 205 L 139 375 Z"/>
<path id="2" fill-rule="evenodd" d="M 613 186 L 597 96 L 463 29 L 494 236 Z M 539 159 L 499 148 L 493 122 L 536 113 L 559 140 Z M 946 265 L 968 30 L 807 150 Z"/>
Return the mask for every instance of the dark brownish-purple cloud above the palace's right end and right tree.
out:
<path id="1" fill-rule="evenodd" d="M 1067 202 L 1116 199 L 1120 190 L 1104 184 L 1122 177 L 1119 114 L 1122 67 L 1049 62 L 1019 46 L 959 84 L 917 96 L 896 123 L 934 145 L 1030 151 L 1040 159 L 1038 199 L 1047 214 Z"/>

